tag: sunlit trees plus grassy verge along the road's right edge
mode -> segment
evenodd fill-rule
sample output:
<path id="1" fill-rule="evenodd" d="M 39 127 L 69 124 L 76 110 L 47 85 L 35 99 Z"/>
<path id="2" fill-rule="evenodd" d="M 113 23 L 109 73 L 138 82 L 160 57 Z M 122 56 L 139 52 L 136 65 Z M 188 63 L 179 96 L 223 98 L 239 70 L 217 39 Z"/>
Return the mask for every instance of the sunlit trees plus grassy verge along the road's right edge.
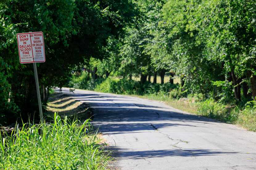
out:
<path id="1" fill-rule="evenodd" d="M 141 0 L 137 5 L 138 25 L 126 27 L 118 40 L 109 39 L 108 57 L 91 57 L 67 84 L 165 101 L 255 131 L 254 1 Z"/>

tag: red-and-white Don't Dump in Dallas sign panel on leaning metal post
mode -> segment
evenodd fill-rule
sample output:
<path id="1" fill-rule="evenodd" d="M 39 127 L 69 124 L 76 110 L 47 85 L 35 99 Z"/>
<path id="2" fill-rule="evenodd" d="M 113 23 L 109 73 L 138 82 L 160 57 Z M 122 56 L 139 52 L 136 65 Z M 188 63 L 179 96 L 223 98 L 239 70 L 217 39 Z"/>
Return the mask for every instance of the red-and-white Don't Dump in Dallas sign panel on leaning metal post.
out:
<path id="1" fill-rule="evenodd" d="M 18 33 L 17 42 L 21 64 L 45 62 L 43 32 Z"/>

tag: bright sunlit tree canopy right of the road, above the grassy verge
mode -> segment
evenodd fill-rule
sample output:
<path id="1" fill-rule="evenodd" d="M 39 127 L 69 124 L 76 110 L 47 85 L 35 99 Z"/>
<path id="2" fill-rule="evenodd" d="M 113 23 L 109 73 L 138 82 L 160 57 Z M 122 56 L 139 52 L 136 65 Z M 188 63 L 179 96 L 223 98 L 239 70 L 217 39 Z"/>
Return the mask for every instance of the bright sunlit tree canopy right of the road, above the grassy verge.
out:
<path id="1" fill-rule="evenodd" d="M 254 1 L 140 0 L 138 6 L 142 19 L 116 43 L 108 71 L 140 75 L 142 84 L 152 75 L 161 83 L 165 74 L 170 83 L 177 76 L 188 94 L 224 103 L 255 99 Z"/>

